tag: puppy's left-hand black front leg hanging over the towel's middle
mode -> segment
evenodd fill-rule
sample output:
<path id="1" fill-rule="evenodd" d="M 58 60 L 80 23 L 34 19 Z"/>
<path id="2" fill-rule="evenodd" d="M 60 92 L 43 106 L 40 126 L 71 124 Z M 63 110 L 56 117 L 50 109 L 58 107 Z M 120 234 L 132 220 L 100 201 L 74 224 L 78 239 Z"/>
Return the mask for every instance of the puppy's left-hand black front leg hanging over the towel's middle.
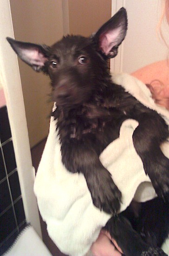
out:
<path id="1" fill-rule="evenodd" d="M 93 204 L 107 213 L 115 214 L 120 208 L 121 192 L 110 173 L 101 164 L 91 140 L 76 139 L 62 143 L 62 162 L 72 173 L 83 173 Z"/>

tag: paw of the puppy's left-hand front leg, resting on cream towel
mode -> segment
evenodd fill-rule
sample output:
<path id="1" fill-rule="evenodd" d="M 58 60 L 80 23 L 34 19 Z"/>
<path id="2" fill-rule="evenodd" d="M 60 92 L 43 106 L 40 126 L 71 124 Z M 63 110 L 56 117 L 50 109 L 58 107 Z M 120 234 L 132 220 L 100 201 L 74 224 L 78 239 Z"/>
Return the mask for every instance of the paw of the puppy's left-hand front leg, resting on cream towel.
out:
<path id="1" fill-rule="evenodd" d="M 93 204 L 107 213 L 117 214 L 122 194 L 113 182 L 110 173 L 106 169 L 92 173 L 86 182 Z"/>

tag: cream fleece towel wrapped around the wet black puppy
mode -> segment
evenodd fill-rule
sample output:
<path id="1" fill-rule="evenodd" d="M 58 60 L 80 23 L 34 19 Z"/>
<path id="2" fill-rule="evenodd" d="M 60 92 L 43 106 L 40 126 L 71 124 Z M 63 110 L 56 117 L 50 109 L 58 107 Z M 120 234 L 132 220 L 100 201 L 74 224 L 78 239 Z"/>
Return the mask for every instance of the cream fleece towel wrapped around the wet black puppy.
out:
<path id="1" fill-rule="evenodd" d="M 145 106 L 155 109 L 169 120 L 169 111 L 158 107 L 150 97 L 150 91 L 136 78 L 117 74 L 113 81 L 122 85 Z M 67 255 L 83 256 L 97 239 L 110 215 L 97 209 L 91 200 L 82 174 L 72 174 L 61 162 L 60 144 L 56 122 L 51 118 L 50 131 L 34 183 L 40 214 L 47 223 L 49 236 L 58 248 Z M 120 136 L 110 143 L 100 155 L 122 192 L 121 211 L 131 200 L 144 202 L 156 196 L 150 179 L 145 175 L 143 163 L 136 154 L 132 134 L 138 122 L 126 120 Z M 169 145 L 163 144 L 163 152 L 169 157 Z"/>

